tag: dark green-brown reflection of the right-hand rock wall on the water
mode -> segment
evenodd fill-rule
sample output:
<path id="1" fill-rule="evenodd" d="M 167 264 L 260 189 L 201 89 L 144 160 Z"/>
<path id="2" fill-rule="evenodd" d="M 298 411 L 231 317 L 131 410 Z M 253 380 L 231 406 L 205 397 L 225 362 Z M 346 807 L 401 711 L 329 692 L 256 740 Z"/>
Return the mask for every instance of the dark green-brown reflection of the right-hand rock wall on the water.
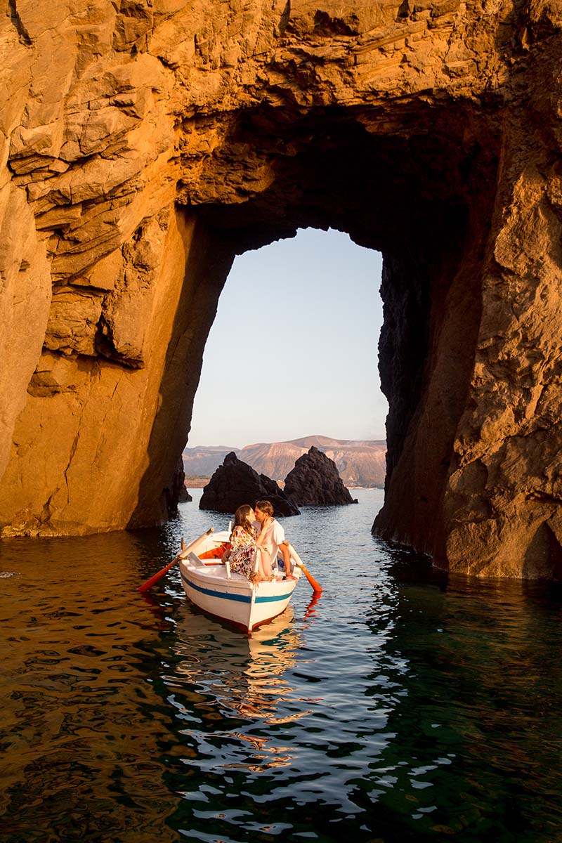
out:
<path id="1" fill-rule="evenodd" d="M 545 720 L 543 696 L 559 695 L 559 629 L 544 588 L 441 576 L 431 588 L 403 572 L 373 595 L 372 695 L 390 739 L 356 803 L 379 827 L 398 812 L 404 839 L 543 839 L 561 816 L 559 717 Z"/>

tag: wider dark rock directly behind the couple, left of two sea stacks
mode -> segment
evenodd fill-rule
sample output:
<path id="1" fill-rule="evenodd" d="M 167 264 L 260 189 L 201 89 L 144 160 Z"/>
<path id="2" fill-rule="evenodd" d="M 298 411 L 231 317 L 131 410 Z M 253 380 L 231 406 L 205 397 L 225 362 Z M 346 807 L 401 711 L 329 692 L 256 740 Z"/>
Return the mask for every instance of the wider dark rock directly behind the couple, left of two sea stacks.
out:
<path id="1" fill-rule="evenodd" d="M 200 509 L 214 509 L 218 513 L 233 513 L 243 503 L 254 506 L 256 501 L 270 501 L 275 515 L 299 515 L 295 504 L 275 481 L 238 459 L 232 451 L 224 458 L 205 486 Z"/>

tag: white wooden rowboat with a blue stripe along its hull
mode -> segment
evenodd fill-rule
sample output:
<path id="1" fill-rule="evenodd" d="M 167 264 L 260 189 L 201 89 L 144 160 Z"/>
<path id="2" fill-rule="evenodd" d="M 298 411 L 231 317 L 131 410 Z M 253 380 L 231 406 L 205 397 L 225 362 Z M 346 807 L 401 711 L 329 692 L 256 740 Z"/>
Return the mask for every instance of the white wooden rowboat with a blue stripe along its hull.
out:
<path id="1" fill-rule="evenodd" d="M 186 595 L 199 609 L 239 630 L 250 633 L 281 615 L 289 604 L 298 579 L 286 580 L 279 572 L 272 583 L 250 583 L 242 574 L 230 571 L 221 559 L 201 559 L 230 539 L 230 531 L 209 530 L 179 553 L 179 572 Z"/>

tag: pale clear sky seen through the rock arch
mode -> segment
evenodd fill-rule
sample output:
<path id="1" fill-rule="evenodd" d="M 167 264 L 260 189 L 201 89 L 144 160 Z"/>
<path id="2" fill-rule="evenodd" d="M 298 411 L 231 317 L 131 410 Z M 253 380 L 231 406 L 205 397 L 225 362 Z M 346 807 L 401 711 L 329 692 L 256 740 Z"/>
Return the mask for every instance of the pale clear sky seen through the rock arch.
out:
<path id="1" fill-rule="evenodd" d="M 299 229 L 238 256 L 203 356 L 188 447 L 383 439 L 382 256 Z"/>

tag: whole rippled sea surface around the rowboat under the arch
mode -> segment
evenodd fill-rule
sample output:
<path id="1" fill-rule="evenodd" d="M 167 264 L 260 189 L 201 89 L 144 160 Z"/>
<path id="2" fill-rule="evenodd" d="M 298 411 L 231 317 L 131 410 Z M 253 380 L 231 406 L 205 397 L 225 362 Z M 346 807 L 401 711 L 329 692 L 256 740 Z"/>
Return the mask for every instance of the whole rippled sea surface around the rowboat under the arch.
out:
<path id="1" fill-rule="evenodd" d="M 223 528 L 196 502 L 0 545 L 0 838 L 562 840 L 562 593 L 447 581 L 372 539 L 382 493 L 357 495 L 285 520 L 324 594 L 303 578 L 250 639 L 177 571 L 134 590 Z"/>

